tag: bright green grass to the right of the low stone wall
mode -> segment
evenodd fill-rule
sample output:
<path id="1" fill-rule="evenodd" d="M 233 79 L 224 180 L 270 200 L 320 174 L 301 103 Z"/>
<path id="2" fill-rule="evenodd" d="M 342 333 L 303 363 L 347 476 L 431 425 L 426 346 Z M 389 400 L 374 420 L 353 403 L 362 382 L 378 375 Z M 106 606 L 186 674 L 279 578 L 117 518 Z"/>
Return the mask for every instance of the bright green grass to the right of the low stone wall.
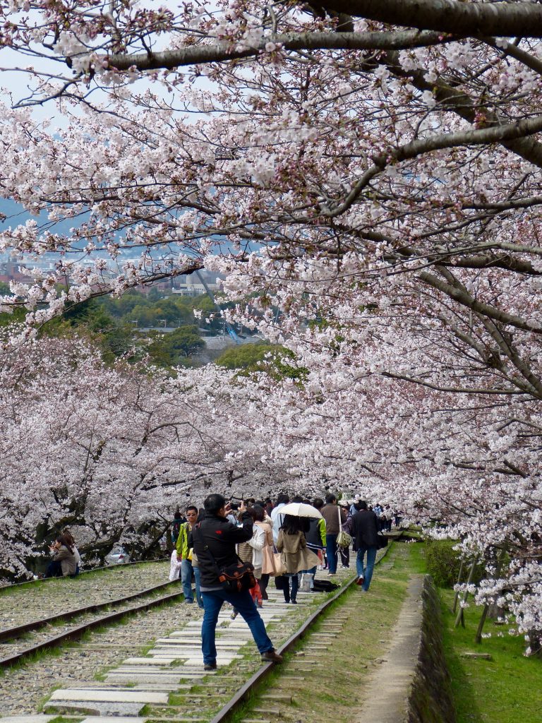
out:
<path id="1" fill-rule="evenodd" d="M 425 572 L 423 545 L 413 545 L 420 572 Z M 474 641 L 481 607 L 465 609 L 465 628 L 455 628 L 453 591 L 439 589 L 444 622 L 444 654 L 452 677 L 457 723 L 535 723 L 542 720 L 542 660 L 525 658 L 525 641 L 509 635 L 508 625 L 487 620 L 481 645 Z M 501 637 L 502 636 L 502 637 Z M 465 652 L 489 653 L 491 660 L 463 658 Z"/>

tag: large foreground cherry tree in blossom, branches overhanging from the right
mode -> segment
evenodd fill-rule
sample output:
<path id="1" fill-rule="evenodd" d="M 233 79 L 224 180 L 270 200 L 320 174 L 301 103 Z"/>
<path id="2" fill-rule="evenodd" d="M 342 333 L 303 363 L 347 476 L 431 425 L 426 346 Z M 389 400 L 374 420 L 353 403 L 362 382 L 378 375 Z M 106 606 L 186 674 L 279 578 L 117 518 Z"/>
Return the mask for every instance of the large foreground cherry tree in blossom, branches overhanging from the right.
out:
<path id="1" fill-rule="evenodd" d="M 506 574 L 479 598 L 542 630 L 540 5 L 0 12 L 2 52 L 33 79 L 1 111 L 0 188 L 49 218 L 6 228 L 0 249 L 59 254 L 3 301 L 30 310 L 16 341 L 66 302 L 223 273 L 232 318 L 308 371 L 302 384 L 221 377 L 212 393 L 215 371 L 178 377 L 209 390 L 219 474 L 242 458 L 262 488 L 361 485 L 447 524 L 491 574 L 505 549 Z M 33 115 L 48 104 L 60 128 Z"/>

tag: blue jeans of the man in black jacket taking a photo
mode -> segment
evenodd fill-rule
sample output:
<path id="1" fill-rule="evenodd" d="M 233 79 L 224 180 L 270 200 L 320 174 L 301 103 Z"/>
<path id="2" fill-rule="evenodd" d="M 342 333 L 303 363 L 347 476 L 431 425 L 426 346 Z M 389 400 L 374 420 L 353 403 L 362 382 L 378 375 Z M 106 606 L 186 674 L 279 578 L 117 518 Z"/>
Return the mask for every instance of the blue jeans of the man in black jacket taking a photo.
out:
<path id="1" fill-rule="evenodd" d="M 212 590 L 202 592 L 203 614 L 202 623 L 202 652 L 204 664 L 216 663 L 215 632 L 218 621 L 218 613 L 225 602 L 229 602 L 241 613 L 246 624 L 250 628 L 254 643 L 260 654 L 267 653 L 273 649 L 273 643 L 265 632 L 264 621 L 259 617 L 259 612 L 251 594 L 248 590 L 243 592 L 227 592 L 225 590 Z"/>

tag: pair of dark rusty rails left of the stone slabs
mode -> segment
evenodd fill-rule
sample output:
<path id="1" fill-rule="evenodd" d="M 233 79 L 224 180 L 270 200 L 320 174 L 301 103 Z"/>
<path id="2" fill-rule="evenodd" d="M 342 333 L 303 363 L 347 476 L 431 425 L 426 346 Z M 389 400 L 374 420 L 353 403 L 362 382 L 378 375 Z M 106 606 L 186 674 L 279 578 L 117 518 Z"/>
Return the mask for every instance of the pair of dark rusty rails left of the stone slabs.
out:
<path id="1" fill-rule="evenodd" d="M 150 588 L 145 591 L 139 592 L 137 594 L 132 594 L 129 596 L 126 596 L 126 598 L 119 598 L 114 600 L 113 602 L 103 603 L 99 605 L 90 605 L 87 608 L 80 608 L 79 610 L 72 611 L 71 613 L 67 613 L 67 615 L 70 615 L 70 617 L 74 617 L 75 615 L 81 615 L 83 612 L 92 612 L 95 609 L 100 609 L 100 607 L 110 607 L 111 604 L 119 604 L 120 602 L 126 602 L 126 600 L 134 599 L 135 597 L 139 597 L 145 594 L 148 594 L 149 592 L 152 592 L 153 590 L 163 588 L 168 585 L 172 585 L 173 583 L 162 583 L 161 585 L 157 585 L 155 588 Z M 92 630 L 93 628 L 99 628 L 101 625 L 108 625 L 109 623 L 115 623 L 116 620 L 120 620 L 125 615 L 134 615 L 137 612 L 142 612 L 142 610 L 150 609 L 151 607 L 158 607 L 158 605 L 162 605 L 165 602 L 170 602 L 174 599 L 177 599 L 179 597 L 183 597 L 183 592 L 180 590 L 178 592 L 174 592 L 170 595 L 165 595 L 163 597 L 155 598 L 152 600 L 149 600 L 148 602 L 144 602 L 140 605 L 136 605 L 135 607 L 129 607 L 124 610 L 119 610 L 118 612 L 111 612 L 108 613 L 108 615 L 103 615 L 102 617 L 98 617 L 96 620 L 91 620 L 90 623 L 83 623 L 82 625 L 77 625 L 76 628 L 72 628 L 71 630 L 66 630 L 64 633 L 60 633 L 59 635 L 53 636 L 52 638 L 48 638 L 45 641 L 42 641 L 40 643 L 37 643 L 33 646 L 29 646 L 28 648 L 25 648 L 24 650 L 14 654 L 7 656 L 6 658 L 0 659 L 0 667 L 7 668 L 13 665 L 14 663 L 20 662 L 22 659 L 25 659 L 25 657 L 32 655 L 33 653 L 36 653 L 40 650 L 46 650 L 48 648 L 54 648 L 58 645 L 61 645 L 61 643 L 65 643 L 66 641 L 72 641 L 77 640 L 78 638 L 81 638 L 87 630 Z M 58 616 L 54 616 L 56 619 L 59 617 L 65 617 L 66 613 Z M 9 628 L 9 630 L 2 631 L 3 633 L 10 633 L 15 630 L 18 630 L 18 634 L 22 635 L 25 631 L 27 631 L 28 625 L 38 624 L 38 627 L 42 627 L 43 625 L 46 625 L 46 623 L 50 622 L 51 618 L 48 618 L 47 620 L 36 620 L 35 623 L 27 623 L 27 625 L 20 625 L 19 628 Z M 22 630 L 22 628 L 26 628 L 26 630 Z M 35 628 L 34 628 L 35 629 Z M 17 637 L 16 635 L 13 635 L 13 639 Z M 5 638 L 4 638 L 5 639 Z"/>

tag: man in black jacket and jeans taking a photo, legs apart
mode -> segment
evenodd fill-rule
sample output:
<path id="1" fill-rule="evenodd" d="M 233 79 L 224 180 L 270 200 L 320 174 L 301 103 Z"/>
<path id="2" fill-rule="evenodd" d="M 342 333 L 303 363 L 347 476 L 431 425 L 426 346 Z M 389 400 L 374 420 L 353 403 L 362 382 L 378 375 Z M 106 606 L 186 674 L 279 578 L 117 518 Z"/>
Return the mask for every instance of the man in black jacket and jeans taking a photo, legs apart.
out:
<path id="1" fill-rule="evenodd" d="M 241 526 L 233 525 L 226 515 L 229 505 L 222 495 L 209 495 L 203 503 L 205 517 L 192 529 L 189 546 L 194 547 L 201 576 L 201 592 L 205 613 L 202 623 L 202 652 L 205 670 L 216 669 L 215 632 L 218 613 L 224 602 L 229 602 L 246 620 L 262 660 L 272 663 L 283 661 L 275 653 L 265 631 L 264 621 L 248 590 L 228 592 L 218 578 L 221 568 L 238 562 L 236 544 L 252 537 L 252 518 L 241 503 Z"/>

